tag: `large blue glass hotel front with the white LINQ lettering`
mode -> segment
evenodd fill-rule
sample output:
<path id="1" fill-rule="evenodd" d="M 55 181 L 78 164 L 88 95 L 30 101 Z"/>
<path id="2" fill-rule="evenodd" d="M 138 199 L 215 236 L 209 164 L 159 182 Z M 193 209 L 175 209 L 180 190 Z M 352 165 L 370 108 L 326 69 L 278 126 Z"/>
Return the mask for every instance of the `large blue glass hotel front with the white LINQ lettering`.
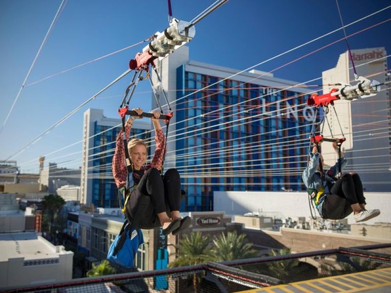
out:
<path id="1" fill-rule="evenodd" d="M 177 98 L 221 80 L 188 72 L 185 65 L 177 68 L 176 77 Z M 204 128 L 176 140 L 176 167 L 187 192 L 181 210 L 213 210 L 213 191 L 304 190 L 300 169 L 306 164 L 311 128 L 303 111 L 308 96 L 225 80 L 178 101 L 176 133 Z M 294 105 L 296 111 L 276 115 Z"/>

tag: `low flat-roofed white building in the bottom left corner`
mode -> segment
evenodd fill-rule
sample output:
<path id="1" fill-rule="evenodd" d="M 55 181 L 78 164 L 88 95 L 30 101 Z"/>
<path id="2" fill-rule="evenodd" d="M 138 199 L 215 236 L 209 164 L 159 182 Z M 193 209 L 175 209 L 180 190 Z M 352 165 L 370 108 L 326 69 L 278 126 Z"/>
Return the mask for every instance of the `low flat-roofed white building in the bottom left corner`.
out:
<path id="1" fill-rule="evenodd" d="M 0 288 L 72 279 L 73 252 L 35 232 L 0 234 Z"/>

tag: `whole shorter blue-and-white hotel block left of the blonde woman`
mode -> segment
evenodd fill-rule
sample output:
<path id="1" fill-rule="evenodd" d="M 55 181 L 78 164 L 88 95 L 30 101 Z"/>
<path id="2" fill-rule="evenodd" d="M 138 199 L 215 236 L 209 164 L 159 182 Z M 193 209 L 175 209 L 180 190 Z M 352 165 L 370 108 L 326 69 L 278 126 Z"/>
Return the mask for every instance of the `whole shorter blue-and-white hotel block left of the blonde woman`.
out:
<path id="1" fill-rule="evenodd" d="M 80 203 L 95 207 L 118 208 L 117 188 L 111 174 L 115 141 L 120 132 L 119 119 L 103 116 L 101 109 L 84 112 L 83 155 L 80 185 Z M 151 123 L 135 121 L 130 135 L 150 138 Z"/>

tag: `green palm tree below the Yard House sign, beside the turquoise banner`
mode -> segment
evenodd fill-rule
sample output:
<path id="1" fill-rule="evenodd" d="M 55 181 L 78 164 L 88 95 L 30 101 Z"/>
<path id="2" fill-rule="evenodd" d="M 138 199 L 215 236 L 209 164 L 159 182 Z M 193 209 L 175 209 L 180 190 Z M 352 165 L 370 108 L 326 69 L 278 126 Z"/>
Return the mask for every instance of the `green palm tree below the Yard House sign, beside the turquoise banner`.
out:
<path id="1" fill-rule="evenodd" d="M 209 250 L 209 243 L 209 235 L 203 236 L 201 232 L 193 232 L 190 235 L 186 235 L 180 244 L 175 247 L 177 258 L 169 264 L 169 267 L 194 266 L 214 260 Z M 197 275 L 193 274 L 195 292 L 197 292 L 199 281 Z"/>

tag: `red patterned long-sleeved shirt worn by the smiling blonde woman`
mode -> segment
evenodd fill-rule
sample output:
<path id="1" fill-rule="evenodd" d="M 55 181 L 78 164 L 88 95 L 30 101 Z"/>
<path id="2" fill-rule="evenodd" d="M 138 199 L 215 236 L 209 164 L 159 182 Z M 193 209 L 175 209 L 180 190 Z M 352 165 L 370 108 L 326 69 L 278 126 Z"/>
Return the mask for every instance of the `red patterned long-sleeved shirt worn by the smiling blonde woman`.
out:
<path id="1" fill-rule="evenodd" d="M 130 126 L 125 126 L 126 138 L 129 140 Z M 150 168 L 156 168 L 160 170 L 163 164 L 164 157 L 164 146 L 165 138 L 163 130 L 155 130 L 155 142 L 156 149 L 153 154 L 153 159 L 151 164 L 148 164 L 143 168 L 144 172 Z M 111 170 L 113 172 L 115 185 L 117 188 L 123 187 L 126 185 L 126 179 L 128 176 L 128 170 L 125 163 L 125 148 L 123 141 L 123 132 L 121 131 L 117 136 L 115 152 L 113 156 L 113 164 L 111 165 Z"/>

